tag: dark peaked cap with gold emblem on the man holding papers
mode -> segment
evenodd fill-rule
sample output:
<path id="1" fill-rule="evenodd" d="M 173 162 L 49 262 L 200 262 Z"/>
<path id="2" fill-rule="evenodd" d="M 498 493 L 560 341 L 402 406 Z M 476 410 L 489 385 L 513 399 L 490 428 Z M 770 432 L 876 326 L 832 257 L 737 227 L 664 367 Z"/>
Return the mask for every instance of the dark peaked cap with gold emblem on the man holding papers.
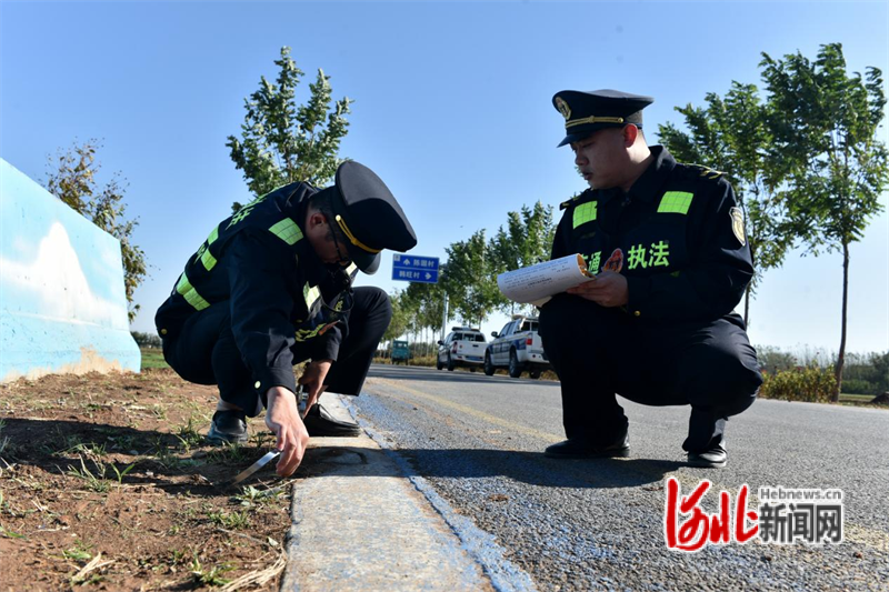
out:
<path id="1" fill-rule="evenodd" d="M 632 123 L 642 128 L 642 109 L 653 103 L 651 97 L 619 90 L 563 90 L 552 97 L 552 104 L 565 118 L 567 136 L 559 146 L 582 140 L 605 128 Z"/>

